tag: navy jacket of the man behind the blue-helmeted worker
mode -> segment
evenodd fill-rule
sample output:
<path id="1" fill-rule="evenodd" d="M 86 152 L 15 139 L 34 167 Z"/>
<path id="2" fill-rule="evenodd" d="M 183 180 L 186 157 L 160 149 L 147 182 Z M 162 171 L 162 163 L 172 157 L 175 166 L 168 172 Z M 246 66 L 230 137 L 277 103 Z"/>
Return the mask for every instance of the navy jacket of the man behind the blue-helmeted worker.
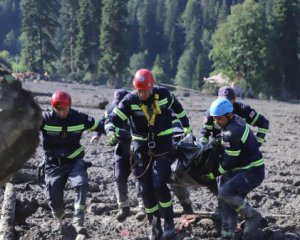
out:
<path id="1" fill-rule="evenodd" d="M 265 135 L 269 129 L 269 121 L 263 115 L 256 112 L 249 105 L 241 102 L 233 103 L 233 113 L 244 118 L 248 124 L 258 127 L 256 139 L 260 145 L 265 142 Z M 219 133 L 220 128 L 214 124 L 213 117 L 210 116 L 208 109 L 204 114 L 200 138 L 204 138 L 205 142 L 208 141 L 209 136 L 215 137 Z"/>

